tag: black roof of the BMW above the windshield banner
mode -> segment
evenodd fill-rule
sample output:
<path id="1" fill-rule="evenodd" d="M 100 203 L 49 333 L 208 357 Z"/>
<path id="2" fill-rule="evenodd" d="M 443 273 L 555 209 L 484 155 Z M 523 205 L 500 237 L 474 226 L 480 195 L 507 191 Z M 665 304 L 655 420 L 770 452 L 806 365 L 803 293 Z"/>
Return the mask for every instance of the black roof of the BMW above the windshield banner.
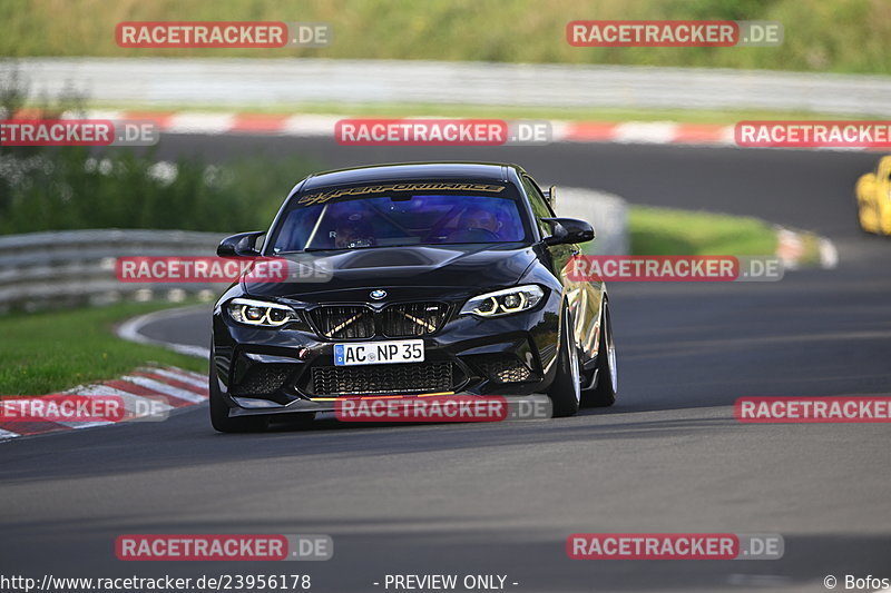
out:
<path id="1" fill-rule="evenodd" d="M 508 169 L 519 176 L 523 171 L 517 165 L 502 162 L 398 162 L 354 167 L 324 171 L 307 177 L 303 191 L 319 187 L 350 184 L 419 180 L 419 179 L 473 179 L 488 181 L 509 180 Z"/>

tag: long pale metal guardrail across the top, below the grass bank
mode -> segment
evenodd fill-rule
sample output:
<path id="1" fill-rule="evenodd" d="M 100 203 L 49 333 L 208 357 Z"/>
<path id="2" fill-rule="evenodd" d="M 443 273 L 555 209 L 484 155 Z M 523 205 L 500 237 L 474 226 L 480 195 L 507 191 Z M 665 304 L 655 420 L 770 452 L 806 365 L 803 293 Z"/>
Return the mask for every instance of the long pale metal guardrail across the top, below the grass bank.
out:
<path id="1" fill-rule="evenodd" d="M 26 58 L 39 96 L 66 88 L 139 105 L 468 103 L 628 109 L 765 109 L 891 116 L 891 77 L 709 68 L 422 60 Z M 449 89 L 443 92 L 443 89 Z"/>

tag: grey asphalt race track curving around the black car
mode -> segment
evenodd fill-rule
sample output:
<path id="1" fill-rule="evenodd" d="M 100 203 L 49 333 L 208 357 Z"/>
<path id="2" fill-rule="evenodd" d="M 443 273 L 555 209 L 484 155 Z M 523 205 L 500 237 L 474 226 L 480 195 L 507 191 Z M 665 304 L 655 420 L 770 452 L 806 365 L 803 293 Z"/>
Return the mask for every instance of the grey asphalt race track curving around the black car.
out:
<path id="1" fill-rule="evenodd" d="M 0 444 L 6 565 L 30 576 L 300 572 L 321 592 L 384 591 L 386 574 L 405 573 L 502 574 L 518 592 L 817 592 L 829 574 L 891 577 L 888 425 L 742 425 L 732 416 L 740 396 L 891 393 L 891 241 L 859 231 L 852 198 L 877 155 L 180 136 L 159 156 L 248 151 L 304 152 L 329 168 L 510 160 L 542 181 L 636 204 L 811 228 L 836 244 L 840 266 L 780 283 L 610 285 L 619 401 L 572 418 L 322 421 L 309 432 L 219 435 L 202 407 L 160 424 Z M 146 334 L 205 345 L 206 312 Z M 579 532 L 777 533 L 785 556 L 572 561 L 565 543 Z M 126 533 L 322 533 L 333 537 L 334 557 L 126 563 L 114 555 Z"/>

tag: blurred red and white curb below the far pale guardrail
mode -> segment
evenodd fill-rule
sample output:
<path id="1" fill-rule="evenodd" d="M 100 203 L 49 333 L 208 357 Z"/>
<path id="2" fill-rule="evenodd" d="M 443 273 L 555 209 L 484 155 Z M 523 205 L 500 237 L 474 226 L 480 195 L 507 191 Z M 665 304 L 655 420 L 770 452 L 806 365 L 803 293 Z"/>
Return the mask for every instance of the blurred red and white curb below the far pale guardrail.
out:
<path id="1" fill-rule="evenodd" d="M 65 117 L 154 121 L 161 134 L 198 134 L 207 136 L 247 134 L 306 138 L 334 138 L 334 129 L 337 121 L 353 119 L 351 116 L 333 115 L 138 110 L 90 110 L 86 113 L 67 113 Z M 431 117 L 425 116 L 425 118 Z M 740 148 L 734 138 L 733 125 L 682 123 L 677 121 L 564 120 L 550 120 L 549 123 L 551 126 L 552 142 L 650 144 Z M 817 150 L 850 151 L 871 149 L 819 148 Z"/>

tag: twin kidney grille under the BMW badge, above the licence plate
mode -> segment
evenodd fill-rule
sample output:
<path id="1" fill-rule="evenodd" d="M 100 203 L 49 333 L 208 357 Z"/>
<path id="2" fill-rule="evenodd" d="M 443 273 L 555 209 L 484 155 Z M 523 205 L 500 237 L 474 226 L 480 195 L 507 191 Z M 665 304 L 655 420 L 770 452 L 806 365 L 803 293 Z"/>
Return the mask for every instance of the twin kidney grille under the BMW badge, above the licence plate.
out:
<path id="1" fill-rule="evenodd" d="M 442 327 L 449 306 L 442 303 L 400 303 L 380 313 L 362 305 L 326 305 L 311 312 L 319 333 L 330 339 L 420 337 Z"/>

